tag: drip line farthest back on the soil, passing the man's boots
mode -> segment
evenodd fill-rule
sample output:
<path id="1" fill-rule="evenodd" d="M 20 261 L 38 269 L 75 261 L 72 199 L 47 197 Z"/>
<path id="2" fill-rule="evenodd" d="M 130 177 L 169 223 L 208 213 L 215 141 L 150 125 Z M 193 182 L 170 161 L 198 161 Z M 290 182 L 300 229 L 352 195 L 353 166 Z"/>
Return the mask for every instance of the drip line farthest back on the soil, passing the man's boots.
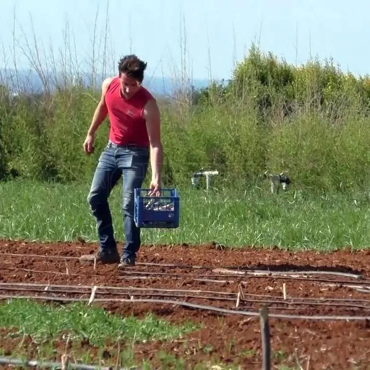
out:
<path id="1" fill-rule="evenodd" d="M 63 260 L 78 260 L 79 257 L 71 257 L 71 256 L 58 256 L 58 255 L 35 255 L 35 254 L 16 254 L 16 253 L 0 253 L 0 256 L 14 256 L 14 257 L 33 257 L 33 258 L 48 258 L 48 259 L 63 259 Z M 325 271 L 325 270 L 305 270 L 305 271 L 269 271 L 269 270 L 255 270 L 255 269 L 238 269 L 233 266 L 231 267 L 218 267 L 215 268 L 213 266 L 207 265 L 185 265 L 185 264 L 172 264 L 172 263 L 150 263 L 150 262 L 137 262 L 137 265 L 141 266 L 158 266 L 158 267 L 174 267 L 174 268 L 182 268 L 182 269 L 205 269 L 205 270 L 217 270 L 222 272 L 222 270 L 229 270 L 228 272 L 234 272 L 237 275 L 265 275 L 268 274 L 272 275 L 337 275 L 337 276 L 345 276 L 351 277 L 354 279 L 363 279 L 362 275 L 354 274 L 354 273 L 347 273 L 347 272 L 340 272 L 340 271 Z M 215 271 L 216 272 L 216 271 Z M 370 283 L 370 279 L 368 280 Z"/>

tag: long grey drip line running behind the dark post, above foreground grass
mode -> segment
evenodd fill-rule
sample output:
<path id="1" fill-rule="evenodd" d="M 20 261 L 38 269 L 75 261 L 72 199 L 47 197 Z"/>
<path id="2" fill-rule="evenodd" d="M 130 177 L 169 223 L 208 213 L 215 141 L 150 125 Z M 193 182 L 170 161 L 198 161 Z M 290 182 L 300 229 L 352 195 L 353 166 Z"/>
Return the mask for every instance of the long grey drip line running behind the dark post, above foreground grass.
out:
<path id="1" fill-rule="evenodd" d="M 0 299 L 38 299 L 45 301 L 59 301 L 59 302 L 88 302 L 89 299 L 85 298 L 62 298 L 62 297 L 38 297 L 38 296 L 7 296 L 0 295 Z M 205 306 L 195 303 L 173 301 L 173 300 L 161 300 L 161 299 L 94 299 L 94 302 L 121 302 L 121 303 L 157 303 L 157 304 L 169 304 L 173 306 L 184 306 L 189 308 L 220 312 L 225 314 L 236 314 L 243 316 L 259 317 L 259 311 L 244 311 L 244 310 L 230 310 L 226 308 Z M 270 317 L 274 318 L 285 318 L 285 319 L 300 319 L 300 320 L 370 320 L 370 316 L 335 316 L 335 315 L 289 315 L 282 313 L 269 313 Z"/>

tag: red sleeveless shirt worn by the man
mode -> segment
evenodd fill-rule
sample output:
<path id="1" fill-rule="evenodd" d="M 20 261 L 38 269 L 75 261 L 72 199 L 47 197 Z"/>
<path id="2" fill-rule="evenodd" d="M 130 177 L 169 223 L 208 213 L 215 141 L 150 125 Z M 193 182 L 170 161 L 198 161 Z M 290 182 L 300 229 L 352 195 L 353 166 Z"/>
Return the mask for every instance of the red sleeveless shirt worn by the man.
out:
<path id="1" fill-rule="evenodd" d="M 109 140 L 117 145 L 149 146 L 143 109 L 153 96 L 144 87 L 130 99 L 121 96 L 118 77 L 114 77 L 105 95 L 110 121 Z"/>

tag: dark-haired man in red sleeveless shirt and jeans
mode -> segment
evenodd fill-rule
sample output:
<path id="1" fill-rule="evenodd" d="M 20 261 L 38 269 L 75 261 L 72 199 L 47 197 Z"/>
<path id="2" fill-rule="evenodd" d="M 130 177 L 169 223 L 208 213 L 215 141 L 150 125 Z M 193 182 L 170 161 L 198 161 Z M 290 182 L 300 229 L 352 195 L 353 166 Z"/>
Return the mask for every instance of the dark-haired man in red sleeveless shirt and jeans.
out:
<path id="1" fill-rule="evenodd" d="M 94 134 L 108 114 L 109 141 L 100 155 L 88 195 L 97 221 L 99 250 L 80 261 L 135 266 L 141 239 L 134 222 L 134 189 L 142 186 L 151 163 L 151 194 L 159 195 L 162 167 L 160 114 L 153 96 L 142 86 L 147 63 L 128 55 L 118 63 L 118 76 L 103 81 L 101 100 L 84 142 L 84 151 L 94 151 Z M 119 256 L 113 236 L 108 197 L 123 177 L 122 211 L 125 244 Z"/>

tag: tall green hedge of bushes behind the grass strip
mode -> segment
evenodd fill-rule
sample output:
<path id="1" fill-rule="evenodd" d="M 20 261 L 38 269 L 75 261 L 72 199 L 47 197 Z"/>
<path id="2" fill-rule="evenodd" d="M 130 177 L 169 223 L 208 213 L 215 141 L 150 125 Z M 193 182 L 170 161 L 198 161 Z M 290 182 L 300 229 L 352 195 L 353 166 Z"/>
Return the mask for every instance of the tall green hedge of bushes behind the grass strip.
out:
<path id="1" fill-rule="evenodd" d="M 99 99 L 82 88 L 53 96 L 1 92 L 0 177 L 91 180 L 109 129 L 87 156 L 83 142 Z M 217 169 L 214 184 L 248 187 L 265 171 L 289 171 L 296 188 L 367 189 L 370 79 L 333 62 L 296 67 L 252 47 L 226 85 L 160 102 L 165 183 L 190 184 L 193 171 Z"/>

